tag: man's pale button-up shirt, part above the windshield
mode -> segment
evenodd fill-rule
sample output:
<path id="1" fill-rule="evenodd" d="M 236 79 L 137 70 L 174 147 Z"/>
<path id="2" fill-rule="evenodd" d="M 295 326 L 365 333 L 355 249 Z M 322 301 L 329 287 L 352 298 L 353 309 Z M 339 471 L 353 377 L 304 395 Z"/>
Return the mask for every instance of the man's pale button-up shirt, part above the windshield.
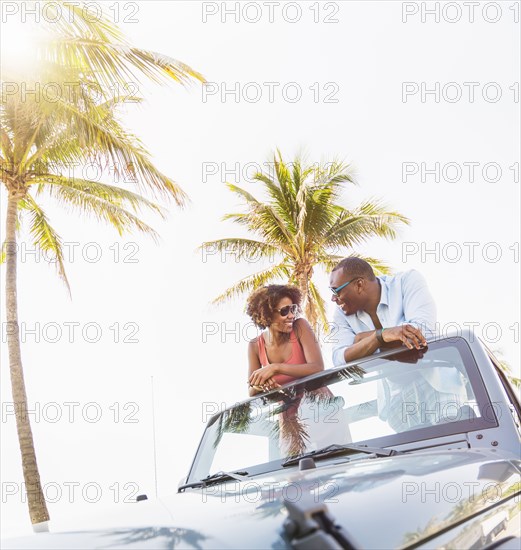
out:
<path id="1" fill-rule="evenodd" d="M 436 325 L 436 305 L 423 276 L 411 269 L 377 278 L 381 283 L 381 296 L 376 314 L 382 327 L 408 323 L 419 328 L 426 338 L 432 336 Z M 331 341 L 336 342 L 333 346 L 333 364 L 339 367 L 345 364 L 344 350 L 354 344 L 355 335 L 375 330 L 375 326 L 365 311 L 346 315 L 337 307 L 332 330 Z"/>

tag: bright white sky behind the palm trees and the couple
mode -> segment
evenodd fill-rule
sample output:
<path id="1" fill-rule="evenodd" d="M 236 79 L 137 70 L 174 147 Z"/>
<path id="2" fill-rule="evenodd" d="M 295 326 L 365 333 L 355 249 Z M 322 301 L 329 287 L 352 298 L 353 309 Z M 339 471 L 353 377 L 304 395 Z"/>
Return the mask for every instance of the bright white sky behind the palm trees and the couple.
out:
<path id="1" fill-rule="evenodd" d="M 126 109 L 128 126 L 157 166 L 189 194 L 191 204 L 184 211 L 172 208 L 164 222 L 147 217 L 161 234 L 155 245 L 139 235 L 118 239 L 110 228 L 80 221 L 45 202 L 63 240 L 78 243 L 67 247 L 72 300 L 53 266 L 20 255 L 19 317 L 23 328 L 36 328 L 40 340 L 26 334 L 22 357 L 29 401 L 40 410 L 39 421 L 32 417 L 33 435 L 42 482 L 49 499 L 56 501 L 49 504 L 56 528 L 105 505 L 114 507 L 116 495 L 120 501 L 133 493 L 153 496 L 152 376 L 160 495 L 175 491 L 188 471 L 204 429 L 203 411 L 215 412 L 221 403 L 246 397 L 246 340 L 254 331 L 247 325 L 244 302 L 218 309 L 209 302 L 262 265 L 217 255 L 203 258 L 196 248 L 205 240 L 244 234 L 220 221 L 240 208 L 224 181 L 259 192 L 244 178 L 225 176 L 224 168 L 261 164 L 276 147 L 288 160 L 303 151 L 310 162 L 333 157 L 351 161 L 360 186 L 346 189 L 344 204 L 379 197 L 411 219 L 397 240 L 373 240 L 357 252 L 385 260 L 396 271 L 419 269 L 438 304 L 442 331 L 476 323 L 478 336 L 501 350 L 514 368 L 519 364 L 519 3 L 498 3 L 501 14 L 483 12 L 482 3 L 472 23 L 467 11 L 457 22 L 446 20 L 456 18 L 450 11 L 456 9 L 454 3 L 439 23 L 433 15 L 425 16 L 426 22 L 421 18 L 421 10 L 434 2 L 404 3 L 406 7 L 392 1 L 321 3 L 318 13 L 316 3 L 281 2 L 274 6 L 273 23 L 260 2 L 250 3 L 254 6 L 240 14 L 238 23 L 233 15 L 221 21 L 221 2 L 206 4 L 207 10 L 220 11 L 203 23 L 200 2 L 119 3 L 120 19 L 136 20 L 120 23 L 133 44 L 188 63 L 214 83 L 213 89 L 230 89 L 238 82 L 241 90 L 257 83 L 263 91 L 258 102 L 244 97 L 235 102 L 232 95 L 222 102 L 218 93 L 204 102 L 197 85 L 188 90 L 146 85 L 140 88 L 145 104 Z M 297 14 L 295 4 L 301 18 L 290 23 L 282 7 L 289 19 Z M 251 21 L 257 8 L 260 21 L 245 20 Z M 402 8 L 411 13 L 406 22 Z M 328 16 L 338 23 L 324 23 Z M 496 17 L 497 22 L 487 22 Z M 271 103 L 265 82 L 280 83 Z M 290 82 L 302 90 L 295 103 L 281 92 Z M 402 100 L 404 82 L 418 93 Z M 431 94 L 422 102 L 422 86 L 432 89 L 436 82 L 439 101 Z M 450 82 L 455 84 L 446 86 Z M 469 82 L 478 83 L 474 101 L 469 101 L 471 85 L 463 84 Z M 319 102 L 310 90 L 314 83 L 321 92 Z M 249 97 L 255 86 L 247 88 Z M 448 101 L 458 90 L 461 99 Z M 501 99 L 493 102 L 498 90 Z M 324 93 L 332 91 L 338 102 L 324 103 Z M 403 163 L 424 163 L 427 169 L 435 163 L 455 165 L 446 167 L 445 177 L 442 171 L 439 182 L 432 174 L 422 182 L 420 173 L 403 182 Z M 464 163 L 479 163 L 473 182 Z M 483 176 L 487 163 L 495 164 Z M 203 178 L 204 166 L 217 173 Z M 496 166 L 501 177 L 493 182 Z M 446 181 L 457 179 L 457 167 L 462 170 L 459 181 Z M 3 231 L 4 190 L 1 200 Z M 25 232 L 20 240 L 26 242 Z M 477 243 L 472 245 L 474 258 L 471 245 L 464 244 L 470 242 Z M 436 246 L 437 255 L 422 255 Z M 126 257 L 135 262 L 124 262 Z M 2 270 L 2 297 L 4 274 Z M 318 282 L 325 292 L 326 275 L 320 274 Z M 79 323 L 73 342 L 71 323 Z M 88 341 L 98 336 L 97 342 Z M 1 523 L 10 535 L 30 525 L 20 496 L 14 417 L 4 415 L 11 400 L 4 344 L 5 335 Z M 324 344 L 323 350 L 330 364 L 329 346 Z M 78 405 L 68 409 L 68 402 Z M 62 418 L 52 422 L 57 411 Z M 99 421 L 85 418 L 100 413 Z M 123 422 L 127 415 L 136 422 Z M 97 494 L 99 502 L 89 502 Z"/>

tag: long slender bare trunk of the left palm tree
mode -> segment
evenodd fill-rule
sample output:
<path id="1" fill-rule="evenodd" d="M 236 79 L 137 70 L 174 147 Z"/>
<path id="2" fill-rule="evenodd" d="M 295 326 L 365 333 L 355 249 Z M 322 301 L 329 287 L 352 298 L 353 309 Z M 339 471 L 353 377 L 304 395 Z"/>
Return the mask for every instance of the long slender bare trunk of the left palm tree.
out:
<path id="1" fill-rule="evenodd" d="M 20 192 L 9 190 L 6 222 L 6 328 L 16 429 L 20 452 L 22 453 L 22 469 L 27 491 L 27 502 L 29 504 L 29 515 L 31 523 L 35 524 L 49 521 L 49 512 L 47 511 L 47 504 L 40 483 L 33 434 L 27 414 L 27 394 L 25 392 L 22 356 L 20 352 L 20 329 L 18 326 L 18 303 L 16 296 L 16 215 L 20 198 Z"/>

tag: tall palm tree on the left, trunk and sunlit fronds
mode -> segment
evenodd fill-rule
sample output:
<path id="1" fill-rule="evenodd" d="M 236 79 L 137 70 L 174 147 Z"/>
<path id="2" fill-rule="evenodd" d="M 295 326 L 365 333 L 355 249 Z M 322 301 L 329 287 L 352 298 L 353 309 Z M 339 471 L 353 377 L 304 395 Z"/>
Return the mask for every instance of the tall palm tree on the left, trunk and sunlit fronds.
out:
<path id="1" fill-rule="evenodd" d="M 47 193 L 70 210 L 108 222 L 120 235 L 138 230 L 155 236 L 137 214 L 141 209 L 149 209 L 162 215 L 157 204 L 115 185 L 71 178 L 70 168 L 73 163 L 111 162 L 119 173 L 131 174 L 138 189 L 170 197 L 182 206 L 185 193 L 154 166 L 143 144 L 118 120 L 118 105 L 139 98 L 114 96 L 109 86 L 125 83 L 129 75 L 134 79 L 138 75 L 182 84 L 203 80 L 199 73 L 171 58 L 132 48 L 107 19 L 92 23 L 83 18 L 81 8 L 72 5 L 77 10 L 74 22 L 63 19 L 60 32 L 35 49 L 38 76 L 27 79 L 26 75 L 15 75 L 28 89 L 34 89 L 36 83 L 52 82 L 54 89 L 59 90 L 57 96 L 52 101 L 32 95 L 22 97 L 20 93 L 5 93 L 2 86 L 0 104 L 0 180 L 7 190 L 2 253 L 6 262 L 7 344 L 22 469 L 33 524 L 48 521 L 49 513 L 26 414 L 16 279 L 19 214 L 29 215 L 34 244 L 54 255 L 58 273 L 67 287 L 61 239 L 37 200 L 40 194 Z M 13 73 L 3 71 L 2 80 L 12 82 Z"/>

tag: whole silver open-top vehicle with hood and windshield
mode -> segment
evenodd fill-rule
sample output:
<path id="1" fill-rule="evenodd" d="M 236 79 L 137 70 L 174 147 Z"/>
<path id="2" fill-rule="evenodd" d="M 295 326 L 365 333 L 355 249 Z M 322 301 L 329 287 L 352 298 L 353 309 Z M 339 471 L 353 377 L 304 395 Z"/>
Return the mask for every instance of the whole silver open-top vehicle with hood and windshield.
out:
<path id="1" fill-rule="evenodd" d="M 471 332 L 259 394 L 207 423 L 177 492 L 2 548 L 521 548 L 521 407 Z"/>

